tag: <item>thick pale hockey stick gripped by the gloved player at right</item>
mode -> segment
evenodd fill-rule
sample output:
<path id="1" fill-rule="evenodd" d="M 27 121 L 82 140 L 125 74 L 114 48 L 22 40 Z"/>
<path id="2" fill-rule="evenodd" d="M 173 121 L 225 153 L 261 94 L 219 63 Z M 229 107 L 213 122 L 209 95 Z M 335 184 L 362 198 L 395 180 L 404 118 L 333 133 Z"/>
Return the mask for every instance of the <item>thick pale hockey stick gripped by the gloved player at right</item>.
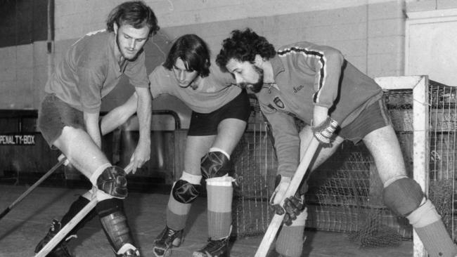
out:
<path id="1" fill-rule="evenodd" d="M 311 140 L 311 143 L 309 143 L 309 146 L 304 153 L 304 156 L 302 158 L 302 161 L 297 167 L 297 171 L 295 171 L 294 176 L 292 177 L 292 180 L 290 180 L 290 184 L 288 187 L 288 190 L 285 191 L 284 194 L 284 199 L 287 197 L 290 197 L 292 195 L 295 195 L 295 192 L 297 192 L 298 187 L 300 187 L 300 183 L 302 182 L 302 179 L 304 178 L 304 174 L 307 172 L 308 166 L 311 163 L 311 160 L 314 158 L 314 154 L 316 153 L 316 150 L 319 146 L 319 142 L 316 138 L 313 137 Z M 283 199 L 283 202 L 284 202 Z M 281 202 L 281 206 L 283 205 L 283 202 Z M 268 253 L 271 243 L 273 243 L 273 240 L 276 237 L 276 234 L 278 233 L 279 228 L 283 224 L 283 215 L 278 215 L 275 214 L 273 218 L 271 219 L 270 225 L 266 229 L 264 238 L 262 239 L 262 242 L 260 242 L 259 249 L 257 249 L 257 252 L 255 253 L 255 257 L 265 257 L 266 253 Z"/>

